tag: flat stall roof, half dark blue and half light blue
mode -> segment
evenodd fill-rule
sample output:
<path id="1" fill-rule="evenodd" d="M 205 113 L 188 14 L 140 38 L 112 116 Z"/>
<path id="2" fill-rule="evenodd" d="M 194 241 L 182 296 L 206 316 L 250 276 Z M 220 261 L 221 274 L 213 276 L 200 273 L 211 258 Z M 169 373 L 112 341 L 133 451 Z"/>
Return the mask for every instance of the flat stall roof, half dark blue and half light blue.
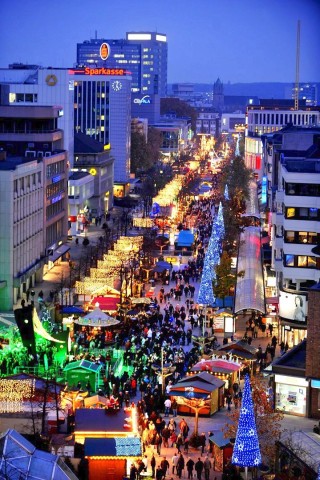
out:
<path id="1" fill-rule="evenodd" d="M 86 457 L 139 457 L 141 440 L 138 437 L 86 438 L 84 454 Z"/>

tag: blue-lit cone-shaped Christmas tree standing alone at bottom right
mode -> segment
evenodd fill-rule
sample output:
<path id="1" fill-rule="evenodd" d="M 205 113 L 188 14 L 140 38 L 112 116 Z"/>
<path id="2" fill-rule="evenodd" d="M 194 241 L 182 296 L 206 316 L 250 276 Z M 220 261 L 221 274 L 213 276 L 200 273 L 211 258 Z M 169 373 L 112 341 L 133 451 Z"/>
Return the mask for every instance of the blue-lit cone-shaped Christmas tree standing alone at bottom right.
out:
<path id="1" fill-rule="evenodd" d="M 249 375 L 245 376 L 239 424 L 231 463 L 240 467 L 257 467 L 261 464 Z"/>

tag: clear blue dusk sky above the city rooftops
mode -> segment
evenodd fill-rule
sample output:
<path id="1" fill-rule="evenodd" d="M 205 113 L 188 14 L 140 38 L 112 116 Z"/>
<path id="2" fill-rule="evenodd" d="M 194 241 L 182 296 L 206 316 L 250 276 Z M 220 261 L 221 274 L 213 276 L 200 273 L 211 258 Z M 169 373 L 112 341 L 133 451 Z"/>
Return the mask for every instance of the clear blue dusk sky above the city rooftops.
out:
<path id="1" fill-rule="evenodd" d="M 0 10 L 2 68 L 72 67 L 84 40 L 157 31 L 167 35 L 168 83 L 294 82 L 300 20 L 300 81 L 320 81 L 317 0 L 199 0 L 196 9 L 190 0 L 93 0 L 90 9 L 75 0 L 3 0 Z"/>

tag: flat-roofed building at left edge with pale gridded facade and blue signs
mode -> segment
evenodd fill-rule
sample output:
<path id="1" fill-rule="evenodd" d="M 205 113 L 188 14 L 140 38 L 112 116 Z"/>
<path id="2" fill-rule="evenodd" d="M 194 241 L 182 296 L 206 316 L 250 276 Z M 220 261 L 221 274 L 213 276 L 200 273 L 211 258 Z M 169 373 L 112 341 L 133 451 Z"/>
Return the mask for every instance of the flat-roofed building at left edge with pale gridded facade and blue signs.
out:
<path id="1" fill-rule="evenodd" d="M 69 250 L 60 107 L 0 106 L 0 304 L 11 310 Z"/>

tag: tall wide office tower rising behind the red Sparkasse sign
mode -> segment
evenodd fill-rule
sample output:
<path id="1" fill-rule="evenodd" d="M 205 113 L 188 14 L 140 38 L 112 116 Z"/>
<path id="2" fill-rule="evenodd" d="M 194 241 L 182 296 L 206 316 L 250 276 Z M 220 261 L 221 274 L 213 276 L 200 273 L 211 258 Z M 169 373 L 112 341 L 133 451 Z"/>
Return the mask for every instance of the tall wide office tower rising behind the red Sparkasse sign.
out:
<path id="1" fill-rule="evenodd" d="M 77 65 L 125 69 L 132 77 L 132 93 L 167 94 L 166 35 L 127 32 L 126 39 L 91 39 L 77 44 Z"/>

